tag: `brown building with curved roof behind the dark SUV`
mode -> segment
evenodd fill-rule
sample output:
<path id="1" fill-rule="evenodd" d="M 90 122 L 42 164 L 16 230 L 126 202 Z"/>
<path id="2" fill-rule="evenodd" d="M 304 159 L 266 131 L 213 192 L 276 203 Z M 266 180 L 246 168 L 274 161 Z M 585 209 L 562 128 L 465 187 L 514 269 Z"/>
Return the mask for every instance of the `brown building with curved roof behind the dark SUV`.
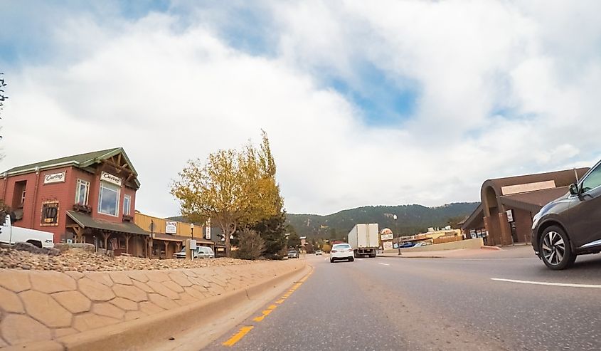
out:
<path id="1" fill-rule="evenodd" d="M 461 224 L 464 236 L 482 237 L 486 245 L 529 243 L 532 218 L 549 201 L 568 193 L 588 168 L 489 179 L 480 190 L 481 204 Z"/>

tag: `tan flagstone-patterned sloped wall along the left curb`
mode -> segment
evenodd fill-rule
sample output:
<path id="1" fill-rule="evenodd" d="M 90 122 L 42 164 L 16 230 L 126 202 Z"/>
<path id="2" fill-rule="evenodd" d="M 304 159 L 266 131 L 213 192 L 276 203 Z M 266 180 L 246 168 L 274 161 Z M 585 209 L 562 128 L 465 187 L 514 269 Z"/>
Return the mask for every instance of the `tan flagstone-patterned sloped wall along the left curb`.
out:
<path id="1" fill-rule="evenodd" d="M 302 266 L 294 260 L 164 271 L 0 269 L 0 347 L 55 340 L 144 318 Z"/>

